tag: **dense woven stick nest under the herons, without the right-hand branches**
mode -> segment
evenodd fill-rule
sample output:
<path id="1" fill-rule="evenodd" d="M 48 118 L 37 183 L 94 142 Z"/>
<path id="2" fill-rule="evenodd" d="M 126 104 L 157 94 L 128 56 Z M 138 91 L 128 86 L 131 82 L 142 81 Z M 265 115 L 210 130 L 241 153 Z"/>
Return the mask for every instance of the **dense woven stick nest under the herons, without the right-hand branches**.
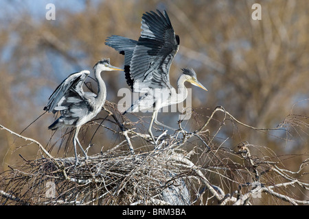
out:
<path id="1" fill-rule="evenodd" d="M 195 174 L 179 168 L 170 159 L 172 153 L 110 150 L 82 159 L 78 166 L 75 157 L 55 159 L 62 170 L 52 159 L 27 160 L 5 178 L 10 192 L 5 204 L 190 205 L 186 183 Z"/>

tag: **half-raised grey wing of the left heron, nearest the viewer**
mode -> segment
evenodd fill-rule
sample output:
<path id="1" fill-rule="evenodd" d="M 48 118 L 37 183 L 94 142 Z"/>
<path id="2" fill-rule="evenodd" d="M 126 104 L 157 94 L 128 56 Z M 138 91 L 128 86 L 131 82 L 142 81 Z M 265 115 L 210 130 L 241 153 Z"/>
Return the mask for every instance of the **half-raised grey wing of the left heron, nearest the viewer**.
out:
<path id="1" fill-rule="evenodd" d="M 84 100 L 82 84 L 90 74 L 89 70 L 82 70 L 69 75 L 49 97 L 44 110 L 56 113 L 58 110 L 65 110 L 67 103 L 80 102 Z"/>

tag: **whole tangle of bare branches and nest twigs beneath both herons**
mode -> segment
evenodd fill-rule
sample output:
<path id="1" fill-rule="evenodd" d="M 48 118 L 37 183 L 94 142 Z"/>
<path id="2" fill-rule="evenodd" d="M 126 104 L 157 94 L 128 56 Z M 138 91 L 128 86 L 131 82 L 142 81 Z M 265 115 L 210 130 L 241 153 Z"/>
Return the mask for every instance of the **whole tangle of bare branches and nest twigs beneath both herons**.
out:
<path id="1" fill-rule="evenodd" d="M 211 135 L 209 124 L 217 112 L 222 112 L 223 119 Z M 308 154 L 280 158 L 266 146 L 249 142 L 232 147 L 226 145 L 227 140 L 218 144 L 214 138 L 226 120 L 248 129 L 269 130 L 242 124 L 222 107 L 217 107 L 196 131 L 185 131 L 179 122 L 177 131 L 172 134 L 164 131 L 157 137 L 157 146 L 150 136 L 137 131 L 133 123 L 130 129 L 124 129 L 115 112 L 108 111 L 108 115 L 122 128 L 113 130 L 122 140 L 107 151 L 89 156 L 78 166 L 74 166 L 73 157 L 54 158 L 39 142 L 0 126 L 36 144 L 41 151 L 38 159 L 23 158 L 21 165 L 1 174 L 1 204 L 309 204 Z M 136 142 L 142 142 L 144 150 L 137 152 Z M 124 150 L 124 146 L 130 150 Z M 295 157 L 303 161 L 297 171 L 292 171 L 283 162 Z M 307 198 L 297 196 L 295 191 Z"/>

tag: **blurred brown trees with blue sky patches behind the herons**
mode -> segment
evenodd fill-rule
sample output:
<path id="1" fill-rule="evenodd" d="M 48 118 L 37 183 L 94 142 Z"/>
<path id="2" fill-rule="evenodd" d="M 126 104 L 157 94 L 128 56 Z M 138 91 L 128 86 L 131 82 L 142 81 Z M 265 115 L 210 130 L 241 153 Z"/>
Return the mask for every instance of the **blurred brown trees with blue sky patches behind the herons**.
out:
<path id="1" fill-rule="evenodd" d="M 55 20 L 45 18 L 48 3 L 56 7 Z M 251 18 L 253 3 L 262 6 L 260 21 Z M 308 154 L 308 130 L 304 130 L 308 127 L 299 123 L 295 125 L 299 130 L 285 120 L 290 114 L 308 116 L 307 1 L 16 0 L 1 1 L 0 6 L 0 124 L 17 133 L 43 114 L 50 94 L 67 75 L 91 70 L 102 57 L 122 67 L 124 57 L 105 46 L 105 39 L 117 34 L 137 40 L 142 14 L 159 9 L 167 10 L 180 36 L 179 53 L 170 71 L 172 85 L 176 86 L 180 68 L 192 67 L 209 90 L 190 86 L 196 114 L 186 129 L 203 125 L 211 111 L 222 105 L 247 125 L 289 130 L 262 133 L 226 124 L 216 139 L 225 141 L 225 146 L 249 141 L 268 146 L 277 155 Z M 102 78 L 108 89 L 106 100 L 117 103 L 122 98 L 117 96 L 119 88 L 128 88 L 124 73 L 104 73 Z M 161 113 L 159 120 L 176 127 L 178 114 L 172 115 Z M 52 136 L 47 127 L 53 120 L 52 114 L 45 114 L 23 134 L 46 145 Z M 88 134 L 86 144 L 93 131 Z M 13 153 L 17 141 L 0 131 L 0 171 L 18 159 Z M 113 141 L 117 137 L 100 131 L 94 141 L 100 146 L 91 148 L 92 153 Z M 22 154 L 35 157 L 36 148 Z"/>

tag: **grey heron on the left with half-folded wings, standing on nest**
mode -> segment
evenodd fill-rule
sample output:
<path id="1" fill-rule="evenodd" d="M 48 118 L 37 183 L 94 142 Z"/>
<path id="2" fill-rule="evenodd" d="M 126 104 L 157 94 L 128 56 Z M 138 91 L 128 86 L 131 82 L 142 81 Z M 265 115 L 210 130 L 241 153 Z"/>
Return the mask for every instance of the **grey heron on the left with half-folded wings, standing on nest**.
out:
<path id="1" fill-rule="evenodd" d="M 67 77 L 49 97 L 44 110 L 47 112 L 60 112 L 60 117 L 48 127 L 48 129 L 56 130 L 64 127 L 76 127 L 73 137 L 74 153 L 76 165 L 78 164 L 78 156 L 76 152 L 76 142 L 80 146 L 82 153 L 87 159 L 87 153 L 82 149 L 82 145 L 78 140 L 78 131 L 80 127 L 87 123 L 91 118 L 95 117 L 102 109 L 106 99 L 106 86 L 101 77 L 104 70 L 122 70 L 112 66 L 109 59 L 102 59 L 93 66 L 93 73 L 98 82 L 98 94 L 93 92 L 84 92 L 82 84 L 90 74 L 89 70 L 82 70 L 73 73 Z"/>

